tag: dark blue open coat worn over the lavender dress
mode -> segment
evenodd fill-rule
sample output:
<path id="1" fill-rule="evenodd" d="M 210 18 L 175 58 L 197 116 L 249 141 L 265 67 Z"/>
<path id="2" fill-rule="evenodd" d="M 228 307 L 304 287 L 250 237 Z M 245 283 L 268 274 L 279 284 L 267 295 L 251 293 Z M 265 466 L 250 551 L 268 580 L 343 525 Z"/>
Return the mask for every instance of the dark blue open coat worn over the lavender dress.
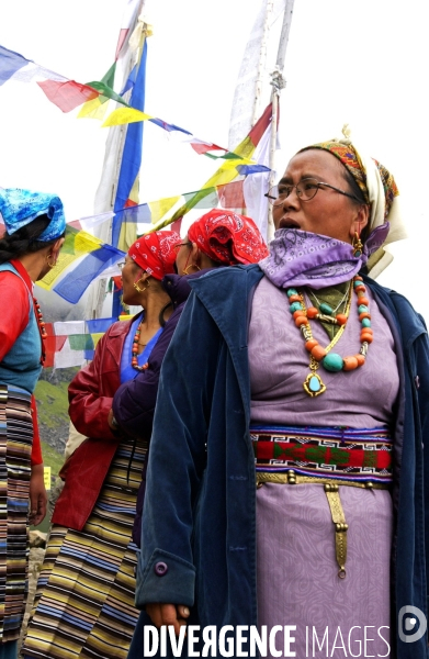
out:
<path id="1" fill-rule="evenodd" d="M 201 626 L 257 624 L 247 335 L 250 300 L 261 277 L 258 266 L 234 267 L 193 282 L 161 370 L 136 604 L 187 604 Z M 403 355 L 393 428 L 392 611 L 397 619 L 405 605 L 427 613 L 428 336 L 405 298 L 370 279 L 366 283 Z M 159 562 L 167 570 L 158 570 Z M 139 633 L 138 626 L 133 659 L 143 656 Z M 426 658 L 427 634 L 413 644 L 397 638 L 392 656 Z"/>

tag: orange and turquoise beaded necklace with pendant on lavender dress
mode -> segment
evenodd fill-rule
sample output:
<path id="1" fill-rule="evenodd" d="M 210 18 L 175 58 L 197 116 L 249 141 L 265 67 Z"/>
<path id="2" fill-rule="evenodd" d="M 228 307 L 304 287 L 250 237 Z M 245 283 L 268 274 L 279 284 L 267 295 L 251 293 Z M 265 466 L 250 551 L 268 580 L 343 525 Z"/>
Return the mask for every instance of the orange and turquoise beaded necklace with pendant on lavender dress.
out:
<path id="1" fill-rule="evenodd" d="M 340 339 L 346 330 L 351 306 L 352 289 L 354 289 L 354 292 L 358 295 L 358 314 L 362 325 L 360 334 L 361 348 L 359 353 L 353 356 L 341 357 L 337 353 L 331 353 L 330 350 Z M 326 384 L 323 382 L 320 376 L 316 372 L 320 364 L 327 371 L 339 372 L 340 370 L 354 370 L 363 366 L 365 362 L 368 346 L 373 339 L 373 331 L 371 328 L 371 315 L 369 312 L 370 302 L 365 297 L 366 288 L 363 284 L 362 277 L 353 277 L 353 279 L 350 281 L 348 293 L 345 313 L 331 316 L 319 313 L 319 311 L 314 306 L 306 309 L 304 295 L 298 293 L 296 289 L 291 288 L 286 292 L 290 302 L 290 311 L 295 321 L 295 325 L 301 330 L 305 340 L 305 348 L 311 354 L 308 365 L 311 372 L 303 382 L 305 392 L 311 396 L 320 395 L 320 393 L 326 391 Z M 309 324 L 311 319 L 340 325 L 338 333 L 330 344 L 326 346 L 326 348 L 320 346 L 319 343 L 313 337 L 313 332 Z"/>

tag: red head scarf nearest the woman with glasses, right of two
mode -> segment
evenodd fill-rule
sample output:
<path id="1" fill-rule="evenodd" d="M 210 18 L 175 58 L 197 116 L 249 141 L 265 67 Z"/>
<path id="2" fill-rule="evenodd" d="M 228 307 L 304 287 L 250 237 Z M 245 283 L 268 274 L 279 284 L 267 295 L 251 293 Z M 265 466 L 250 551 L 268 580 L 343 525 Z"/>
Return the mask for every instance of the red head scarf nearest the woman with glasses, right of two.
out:
<path id="1" fill-rule="evenodd" d="M 208 258 L 225 266 L 257 264 L 269 252 L 253 220 L 224 209 L 212 209 L 188 230 Z"/>

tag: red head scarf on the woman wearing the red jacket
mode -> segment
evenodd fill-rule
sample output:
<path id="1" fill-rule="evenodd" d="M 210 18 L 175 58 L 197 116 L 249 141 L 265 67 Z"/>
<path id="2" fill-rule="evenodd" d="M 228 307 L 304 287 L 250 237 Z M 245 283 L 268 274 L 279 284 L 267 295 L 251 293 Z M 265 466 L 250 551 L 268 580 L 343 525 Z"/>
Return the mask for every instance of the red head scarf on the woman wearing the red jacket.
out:
<path id="1" fill-rule="evenodd" d="M 165 275 L 174 272 L 174 246 L 181 242 L 176 231 L 155 231 L 140 236 L 128 249 L 128 256 L 143 270 L 161 280 Z"/>

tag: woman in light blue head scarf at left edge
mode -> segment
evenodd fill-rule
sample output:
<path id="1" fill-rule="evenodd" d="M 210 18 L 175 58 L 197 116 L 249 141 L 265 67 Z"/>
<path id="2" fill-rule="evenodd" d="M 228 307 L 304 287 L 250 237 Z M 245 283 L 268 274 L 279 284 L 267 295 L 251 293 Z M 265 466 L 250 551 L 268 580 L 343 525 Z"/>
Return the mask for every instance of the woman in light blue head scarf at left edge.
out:
<path id="1" fill-rule="evenodd" d="M 20 188 L 0 189 L 0 658 L 9 659 L 24 613 L 27 524 L 46 513 L 33 398 L 46 332 L 33 289 L 57 261 L 66 220 L 58 197 Z"/>

